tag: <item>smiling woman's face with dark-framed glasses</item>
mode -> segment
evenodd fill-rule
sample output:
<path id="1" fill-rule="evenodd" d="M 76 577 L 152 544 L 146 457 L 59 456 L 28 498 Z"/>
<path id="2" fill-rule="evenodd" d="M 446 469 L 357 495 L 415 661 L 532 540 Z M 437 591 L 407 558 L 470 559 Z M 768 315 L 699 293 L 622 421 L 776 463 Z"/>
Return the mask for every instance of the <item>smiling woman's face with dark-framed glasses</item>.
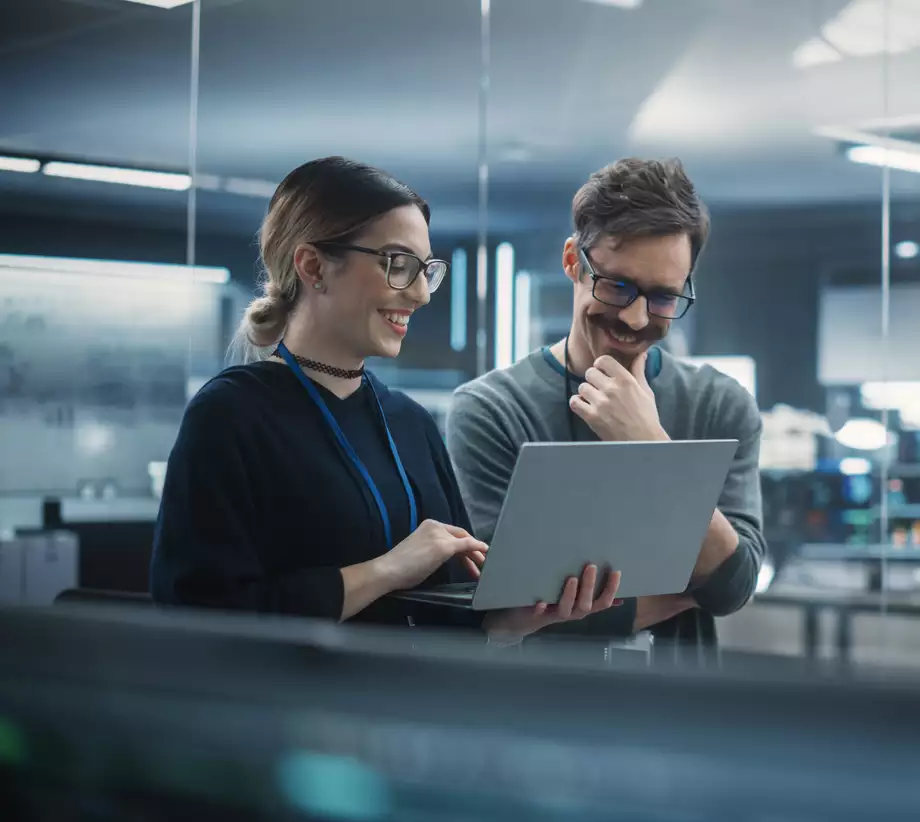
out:
<path id="1" fill-rule="evenodd" d="M 373 251 L 413 254 L 421 260 L 431 257 L 428 225 L 414 205 L 387 212 L 355 237 L 350 245 Z M 340 250 L 323 262 L 320 270 L 325 290 L 308 291 L 316 299 L 323 326 L 335 335 L 343 351 L 358 359 L 395 357 L 411 326 L 413 313 L 426 305 L 430 294 L 424 273 L 404 290 L 387 283 L 387 259 L 372 253 Z M 391 280 L 398 283 L 398 259 L 391 269 Z"/>

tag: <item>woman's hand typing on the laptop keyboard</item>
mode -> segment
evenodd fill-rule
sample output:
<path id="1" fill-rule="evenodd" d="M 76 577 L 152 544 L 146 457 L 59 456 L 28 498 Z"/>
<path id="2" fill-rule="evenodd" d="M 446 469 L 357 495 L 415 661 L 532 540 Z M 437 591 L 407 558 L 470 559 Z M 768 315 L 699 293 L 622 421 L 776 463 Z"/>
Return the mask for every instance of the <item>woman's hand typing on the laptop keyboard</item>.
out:
<path id="1" fill-rule="evenodd" d="M 479 578 L 479 566 L 489 548 L 455 525 L 425 520 L 392 551 L 375 562 L 387 579 L 391 591 L 402 591 L 420 585 L 447 560 L 460 556 L 467 570 Z"/>

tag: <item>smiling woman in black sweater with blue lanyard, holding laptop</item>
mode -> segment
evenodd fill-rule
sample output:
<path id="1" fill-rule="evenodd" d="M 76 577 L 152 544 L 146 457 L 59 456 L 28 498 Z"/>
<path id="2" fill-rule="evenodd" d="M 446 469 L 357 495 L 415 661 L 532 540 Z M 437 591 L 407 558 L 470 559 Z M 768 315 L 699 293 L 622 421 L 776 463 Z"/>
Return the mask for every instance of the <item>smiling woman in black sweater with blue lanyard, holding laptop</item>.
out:
<path id="1" fill-rule="evenodd" d="M 456 620 L 386 596 L 464 568 L 475 577 L 487 547 L 469 534 L 434 420 L 364 370 L 367 357 L 399 353 L 447 274 L 429 217 L 405 185 L 342 158 L 307 163 L 278 187 L 260 235 L 264 295 L 238 335 L 247 364 L 202 388 L 170 455 L 156 601 Z M 482 626 L 514 641 L 610 607 L 618 575 L 593 600 L 596 573 L 569 580 L 555 606 L 488 614 Z"/>

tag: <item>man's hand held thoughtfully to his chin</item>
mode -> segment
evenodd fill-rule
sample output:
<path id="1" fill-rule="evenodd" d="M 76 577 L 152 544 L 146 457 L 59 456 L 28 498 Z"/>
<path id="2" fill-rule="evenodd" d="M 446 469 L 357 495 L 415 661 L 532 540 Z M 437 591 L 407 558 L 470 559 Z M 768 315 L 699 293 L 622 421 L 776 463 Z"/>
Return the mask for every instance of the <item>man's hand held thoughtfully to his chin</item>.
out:
<path id="1" fill-rule="evenodd" d="M 645 378 L 648 352 L 627 370 L 613 357 L 600 357 L 585 372 L 585 381 L 569 401 L 602 440 L 654 441 L 669 439 L 658 418 L 655 395 Z"/>

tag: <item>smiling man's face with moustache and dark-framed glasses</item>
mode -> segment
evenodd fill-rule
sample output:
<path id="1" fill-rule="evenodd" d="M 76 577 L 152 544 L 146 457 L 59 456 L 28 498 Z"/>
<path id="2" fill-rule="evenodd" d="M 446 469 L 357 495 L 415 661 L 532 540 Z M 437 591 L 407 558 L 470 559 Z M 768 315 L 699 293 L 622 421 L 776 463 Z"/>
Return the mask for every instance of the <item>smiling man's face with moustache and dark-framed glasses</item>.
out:
<path id="1" fill-rule="evenodd" d="M 609 235 L 582 256 L 573 239 L 563 253 L 566 275 L 575 284 L 573 332 L 581 337 L 579 349 L 594 362 L 605 354 L 629 368 L 653 343 L 663 339 L 671 320 L 654 316 L 672 313 L 675 295 L 685 294 L 692 253 L 686 234 L 618 240 Z M 597 275 L 597 284 L 591 274 Z M 619 308 L 622 295 L 638 288 L 640 296 Z M 595 290 L 596 289 L 596 290 Z M 682 300 L 676 300 L 679 305 Z M 651 313 L 650 313 L 651 312 Z"/>

